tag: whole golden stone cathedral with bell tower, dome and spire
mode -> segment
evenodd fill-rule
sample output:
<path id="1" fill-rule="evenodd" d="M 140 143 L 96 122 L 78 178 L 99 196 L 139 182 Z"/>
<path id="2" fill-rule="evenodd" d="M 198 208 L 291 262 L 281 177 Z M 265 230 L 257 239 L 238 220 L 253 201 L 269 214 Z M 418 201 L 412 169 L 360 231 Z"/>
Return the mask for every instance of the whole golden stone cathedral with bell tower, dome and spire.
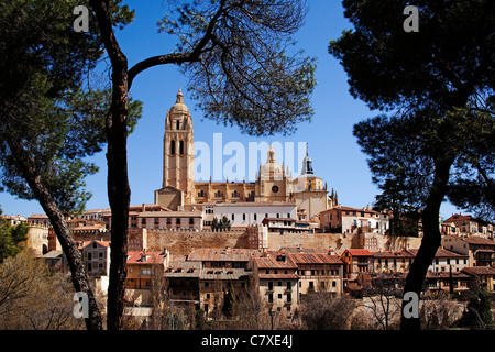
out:
<path id="1" fill-rule="evenodd" d="M 193 118 L 178 91 L 176 102 L 165 118 L 163 139 L 163 183 L 155 190 L 155 204 L 172 210 L 184 210 L 220 202 L 292 202 L 298 213 L 312 221 L 320 211 L 338 204 L 337 193 L 328 195 L 327 183 L 314 174 L 306 147 L 301 175 L 293 179 L 275 160 L 270 145 L 266 163 L 260 165 L 255 182 L 196 182 Z"/>

